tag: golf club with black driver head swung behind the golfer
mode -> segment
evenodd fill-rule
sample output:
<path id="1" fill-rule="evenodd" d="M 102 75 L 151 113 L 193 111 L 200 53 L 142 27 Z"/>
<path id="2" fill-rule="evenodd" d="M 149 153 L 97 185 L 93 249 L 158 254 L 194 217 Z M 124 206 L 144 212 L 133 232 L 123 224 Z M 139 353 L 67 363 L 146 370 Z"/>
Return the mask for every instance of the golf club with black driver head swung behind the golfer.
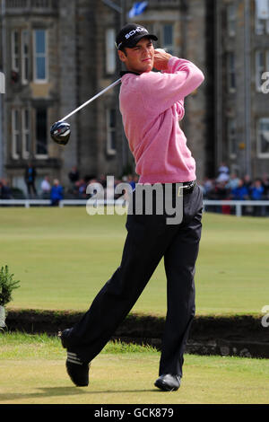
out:
<path id="1" fill-rule="evenodd" d="M 63 119 L 60 119 L 56 123 L 54 123 L 52 127 L 50 127 L 50 136 L 56 142 L 56 144 L 66 145 L 67 142 L 69 141 L 69 137 L 71 135 L 71 128 L 70 128 L 69 123 L 65 121 L 66 119 L 71 118 L 71 116 L 73 116 L 74 113 L 76 113 L 79 110 L 82 110 L 84 107 L 86 107 L 86 105 L 90 104 L 90 102 L 96 100 L 103 93 L 107 92 L 111 88 L 114 88 L 114 86 L 116 86 L 120 82 L 121 82 L 121 79 L 117 79 L 117 81 L 115 81 L 113 84 L 108 85 L 107 88 L 103 89 L 102 91 L 94 95 L 94 97 L 92 97 L 90 100 L 85 101 L 80 107 L 71 111 Z"/>

